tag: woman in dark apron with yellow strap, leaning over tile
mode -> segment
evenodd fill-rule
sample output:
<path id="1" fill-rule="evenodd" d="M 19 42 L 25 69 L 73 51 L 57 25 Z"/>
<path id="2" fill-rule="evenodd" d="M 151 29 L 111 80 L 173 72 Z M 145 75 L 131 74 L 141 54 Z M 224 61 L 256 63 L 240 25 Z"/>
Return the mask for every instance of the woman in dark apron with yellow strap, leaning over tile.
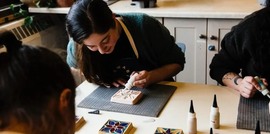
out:
<path id="1" fill-rule="evenodd" d="M 103 0 L 76 1 L 66 16 L 71 37 L 67 62 L 90 83 L 119 87 L 134 74 L 134 86 L 174 81 L 185 57 L 156 18 L 143 13 L 115 14 Z"/>

